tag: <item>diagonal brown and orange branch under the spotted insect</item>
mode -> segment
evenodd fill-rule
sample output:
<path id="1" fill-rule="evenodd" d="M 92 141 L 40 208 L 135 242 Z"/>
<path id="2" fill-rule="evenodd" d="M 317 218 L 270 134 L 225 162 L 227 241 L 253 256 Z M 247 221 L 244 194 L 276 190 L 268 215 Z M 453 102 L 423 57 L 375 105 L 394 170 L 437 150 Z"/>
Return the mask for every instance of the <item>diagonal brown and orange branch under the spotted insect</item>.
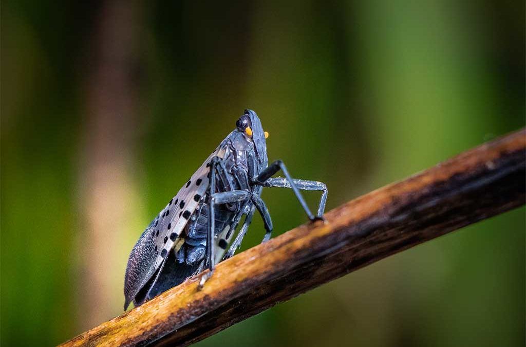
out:
<path id="1" fill-rule="evenodd" d="M 65 345 L 187 345 L 362 266 L 524 204 L 526 131 L 373 191 Z M 521 231 L 522 232 L 522 231 Z"/>

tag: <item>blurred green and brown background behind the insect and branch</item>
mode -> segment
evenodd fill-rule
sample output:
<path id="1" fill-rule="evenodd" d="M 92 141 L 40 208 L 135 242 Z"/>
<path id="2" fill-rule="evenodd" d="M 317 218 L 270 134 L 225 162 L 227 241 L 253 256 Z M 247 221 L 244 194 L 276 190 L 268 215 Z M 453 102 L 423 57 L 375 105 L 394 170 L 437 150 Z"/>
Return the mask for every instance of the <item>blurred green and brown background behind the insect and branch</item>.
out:
<path id="1" fill-rule="evenodd" d="M 524 125 L 524 2 L 2 2 L 1 342 L 122 313 L 140 233 L 245 108 L 328 209 Z M 307 194 L 312 206 L 318 195 Z M 268 190 L 276 234 L 306 221 Z M 524 208 L 199 346 L 524 346 Z M 244 247 L 264 231 L 255 218 Z"/>

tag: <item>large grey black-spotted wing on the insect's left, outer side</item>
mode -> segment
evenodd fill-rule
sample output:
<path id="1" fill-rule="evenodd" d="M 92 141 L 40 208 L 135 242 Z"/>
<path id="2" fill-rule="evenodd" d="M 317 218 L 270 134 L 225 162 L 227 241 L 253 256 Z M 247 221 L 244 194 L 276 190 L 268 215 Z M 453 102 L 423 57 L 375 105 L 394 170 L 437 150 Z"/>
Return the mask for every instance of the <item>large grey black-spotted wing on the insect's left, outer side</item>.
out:
<path id="1" fill-rule="evenodd" d="M 125 309 L 174 246 L 199 200 L 206 193 L 211 159 L 214 156 L 224 156 L 225 151 L 226 146 L 221 143 L 148 225 L 131 250 L 124 279 Z"/>

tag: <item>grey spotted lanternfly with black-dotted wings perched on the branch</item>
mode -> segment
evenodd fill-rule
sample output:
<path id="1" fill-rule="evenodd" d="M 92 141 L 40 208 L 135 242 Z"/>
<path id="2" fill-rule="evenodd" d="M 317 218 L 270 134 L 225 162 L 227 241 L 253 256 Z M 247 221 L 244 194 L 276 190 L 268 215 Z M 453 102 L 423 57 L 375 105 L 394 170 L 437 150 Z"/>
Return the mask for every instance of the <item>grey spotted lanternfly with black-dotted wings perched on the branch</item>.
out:
<path id="1" fill-rule="evenodd" d="M 245 110 L 236 128 L 223 140 L 166 207 L 146 227 L 131 250 L 124 279 L 126 310 L 140 305 L 205 269 L 203 286 L 214 266 L 238 249 L 257 210 L 266 230 L 272 221 L 263 187 L 290 188 L 311 221 L 323 218 L 327 186 L 316 181 L 292 179 L 281 161 L 268 164 L 266 138 L 256 112 Z M 271 178 L 280 171 L 285 177 Z M 314 216 L 299 190 L 321 191 Z M 245 220 L 231 242 L 242 216 Z"/>

